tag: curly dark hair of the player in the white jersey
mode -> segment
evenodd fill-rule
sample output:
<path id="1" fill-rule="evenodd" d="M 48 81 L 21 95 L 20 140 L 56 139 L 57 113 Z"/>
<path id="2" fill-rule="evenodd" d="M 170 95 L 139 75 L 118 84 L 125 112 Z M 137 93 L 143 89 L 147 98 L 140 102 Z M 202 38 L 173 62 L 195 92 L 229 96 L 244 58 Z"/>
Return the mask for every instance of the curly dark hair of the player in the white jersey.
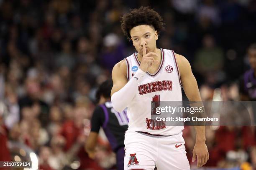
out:
<path id="1" fill-rule="evenodd" d="M 128 40 L 131 40 L 130 31 L 138 25 L 151 25 L 157 32 L 164 30 L 164 22 L 159 13 L 150 7 L 141 6 L 138 9 L 132 9 L 130 13 L 123 15 L 121 19 L 121 28 Z"/>

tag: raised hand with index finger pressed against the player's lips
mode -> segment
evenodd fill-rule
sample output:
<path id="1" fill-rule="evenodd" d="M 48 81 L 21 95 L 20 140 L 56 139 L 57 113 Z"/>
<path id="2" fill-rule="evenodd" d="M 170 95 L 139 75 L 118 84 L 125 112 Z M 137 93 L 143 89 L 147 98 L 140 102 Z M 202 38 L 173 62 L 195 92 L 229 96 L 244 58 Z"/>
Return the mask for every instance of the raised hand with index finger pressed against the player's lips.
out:
<path id="1" fill-rule="evenodd" d="M 140 66 L 140 69 L 144 72 L 147 72 L 148 71 L 148 67 L 150 67 L 151 65 L 154 65 L 156 63 L 156 57 L 155 56 L 157 55 L 156 53 L 154 52 L 149 52 L 147 54 L 147 51 L 146 51 L 146 44 L 143 43 L 143 56 L 142 56 L 142 59 L 141 59 L 141 66 Z"/>

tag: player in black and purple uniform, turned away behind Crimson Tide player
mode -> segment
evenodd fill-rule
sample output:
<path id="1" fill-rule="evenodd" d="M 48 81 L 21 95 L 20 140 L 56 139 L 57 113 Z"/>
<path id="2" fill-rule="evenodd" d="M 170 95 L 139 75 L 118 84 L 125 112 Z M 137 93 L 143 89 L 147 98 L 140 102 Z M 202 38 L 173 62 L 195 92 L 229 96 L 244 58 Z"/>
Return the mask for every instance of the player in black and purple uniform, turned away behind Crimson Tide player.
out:
<path id="1" fill-rule="evenodd" d="M 95 108 L 91 120 L 91 132 L 86 142 L 86 150 L 90 158 L 94 158 L 95 147 L 97 144 L 100 127 L 103 128 L 105 135 L 116 153 L 118 170 L 123 170 L 124 159 L 124 134 L 128 128 L 127 111 L 117 112 L 113 109 L 110 92 L 113 87 L 112 80 L 103 82 L 96 93 L 99 106 Z"/>

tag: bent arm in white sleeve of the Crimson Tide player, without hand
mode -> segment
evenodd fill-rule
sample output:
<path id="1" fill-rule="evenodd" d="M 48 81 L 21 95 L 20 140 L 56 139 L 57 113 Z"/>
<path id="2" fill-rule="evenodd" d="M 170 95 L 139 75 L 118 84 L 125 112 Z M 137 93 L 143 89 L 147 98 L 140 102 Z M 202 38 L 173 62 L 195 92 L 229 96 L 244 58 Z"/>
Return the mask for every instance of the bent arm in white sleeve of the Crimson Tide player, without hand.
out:
<path id="1" fill-rule="evenodd" d="M 135 96 L 138 84 L 141 82 L 146 72 L 138 69 L 136 74 L 127 80 L 125 61 L 118 62 L 112 71 L 113 87 L 111 90 L 111 101 L 116 111 L 122 112 Z"/>

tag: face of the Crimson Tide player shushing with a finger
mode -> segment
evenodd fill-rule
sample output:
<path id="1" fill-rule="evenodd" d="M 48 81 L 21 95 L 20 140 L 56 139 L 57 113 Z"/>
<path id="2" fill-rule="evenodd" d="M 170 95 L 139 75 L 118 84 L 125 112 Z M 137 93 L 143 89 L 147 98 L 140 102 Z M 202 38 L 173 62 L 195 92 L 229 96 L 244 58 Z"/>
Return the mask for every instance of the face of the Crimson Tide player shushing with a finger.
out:
<path id="1" fill-rule="evenodd" d="M 156 49 L 157 31 L 150 25 L 138 25 L 130 31 L 131 40 L 136 50 L 143 55 L 143 43 L 146 44 L 146 51 L 153 52 Z"/>

